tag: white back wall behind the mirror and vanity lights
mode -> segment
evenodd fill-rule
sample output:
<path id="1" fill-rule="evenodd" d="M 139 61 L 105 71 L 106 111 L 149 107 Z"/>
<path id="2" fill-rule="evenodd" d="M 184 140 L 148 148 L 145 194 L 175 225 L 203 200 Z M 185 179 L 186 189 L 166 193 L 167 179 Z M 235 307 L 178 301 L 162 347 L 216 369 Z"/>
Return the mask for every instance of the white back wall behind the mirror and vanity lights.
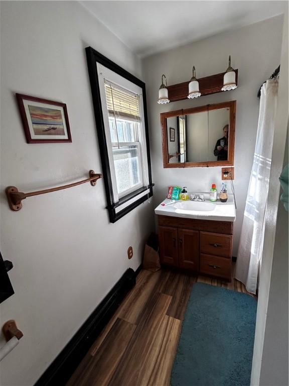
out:
<path id="1" fill-rule="evenodd" d="M 169 185 L 188 186 L 189 190 L 209 190 L 211 183 L 221 188 L 221 167 L 164 169 L 160 113 L 188 109 L 194 106 L 237 101 L 235 136 L 235 192 L 237 219 L 234 228 L 233 254 L 236 255 L 247 187 L 250 178 L 256 140 L 259 99 L 257 92 L 279 64 L 282 16 L 265 20 L 235 31 L 222 33 L 146 58 L 143 70 L 147 85 L 153 181 L 156 183 L 154 205 L 166 196 Z M 168 84 L 190 79 L 195 65 L 197 77 L 224 72 L 229 54 L 232 66 L 239 69 L 238 88 L 234 91 L 202 96 L 169 105 L 158 105 L 158 89 L 164 73 Z M 186 75 L 187 74 L 187 75 Z"/>

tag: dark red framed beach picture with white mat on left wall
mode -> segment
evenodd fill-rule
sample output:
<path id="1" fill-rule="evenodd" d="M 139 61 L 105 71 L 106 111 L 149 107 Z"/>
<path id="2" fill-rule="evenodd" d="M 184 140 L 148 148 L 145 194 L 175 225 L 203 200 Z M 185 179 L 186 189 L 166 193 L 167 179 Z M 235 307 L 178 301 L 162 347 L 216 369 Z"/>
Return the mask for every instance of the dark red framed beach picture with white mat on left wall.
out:
<path id="1" fill-rule="evenodd" d="M 16 94 L 27 143 L 72 142 L 66 105 Z"/>

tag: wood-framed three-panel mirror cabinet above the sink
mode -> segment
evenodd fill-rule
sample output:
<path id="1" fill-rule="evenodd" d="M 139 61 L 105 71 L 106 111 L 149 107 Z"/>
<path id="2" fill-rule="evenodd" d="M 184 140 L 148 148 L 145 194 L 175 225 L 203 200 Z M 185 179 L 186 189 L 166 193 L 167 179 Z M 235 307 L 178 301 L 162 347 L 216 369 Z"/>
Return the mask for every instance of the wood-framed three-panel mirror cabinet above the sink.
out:
<path id="1" fill-rule="evenodd" d="M 236 101 L 161 114 L 164 167 L 234 164 Z"/>

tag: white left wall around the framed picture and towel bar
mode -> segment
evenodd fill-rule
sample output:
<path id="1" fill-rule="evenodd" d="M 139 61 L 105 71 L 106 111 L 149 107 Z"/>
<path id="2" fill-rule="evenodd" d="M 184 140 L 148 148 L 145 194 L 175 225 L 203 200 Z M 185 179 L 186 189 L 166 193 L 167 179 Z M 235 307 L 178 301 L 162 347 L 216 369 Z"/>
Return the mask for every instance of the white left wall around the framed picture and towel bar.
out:
<path id="1" fill-rule="evenodd" d="M 101 172 L 86 46 L 141 77 L 139 59 L 78 2 L 1 2 L 0 246 L 15 289 L 1 326 L 15 319 L 24 333 L 1 362 L 5 386 L 34 384 L 126 268 L 138 267 L 154 227 L 148 202 L 110 224 L 102 179 L 9 209 L 8 185 L 27 192 Z M 15 92 L 66 103 L 72 143 L 27 144 Z"/>

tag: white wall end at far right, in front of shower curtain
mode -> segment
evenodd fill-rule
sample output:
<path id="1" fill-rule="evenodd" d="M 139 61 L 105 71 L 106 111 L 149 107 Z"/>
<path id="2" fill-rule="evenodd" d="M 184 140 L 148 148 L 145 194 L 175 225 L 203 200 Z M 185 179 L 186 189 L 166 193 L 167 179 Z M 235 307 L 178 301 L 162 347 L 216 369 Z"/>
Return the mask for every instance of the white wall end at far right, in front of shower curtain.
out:
<path id="1" fill-rule="evenodd" d="M 265 219 L 251 384 L 288 384 L 288 213 L 279 201 L 279 176 L 288 163 L 288 4 Z"/>

